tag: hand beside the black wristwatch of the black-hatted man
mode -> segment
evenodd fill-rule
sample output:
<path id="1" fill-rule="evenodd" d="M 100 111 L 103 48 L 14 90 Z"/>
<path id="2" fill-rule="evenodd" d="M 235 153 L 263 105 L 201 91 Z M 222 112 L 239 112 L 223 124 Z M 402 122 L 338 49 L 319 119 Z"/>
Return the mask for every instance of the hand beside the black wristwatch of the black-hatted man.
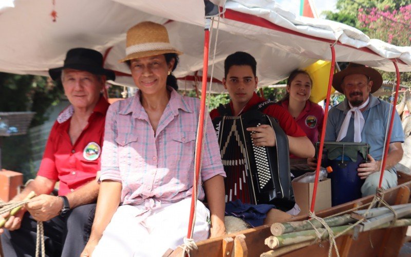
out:
<path id="1" fill-rule="evenodd" d="M 34 197 L 26 209 L 36 221 L 45 222 L 59 215 L 63 205 L 61 197 L 42 194 Z"/>

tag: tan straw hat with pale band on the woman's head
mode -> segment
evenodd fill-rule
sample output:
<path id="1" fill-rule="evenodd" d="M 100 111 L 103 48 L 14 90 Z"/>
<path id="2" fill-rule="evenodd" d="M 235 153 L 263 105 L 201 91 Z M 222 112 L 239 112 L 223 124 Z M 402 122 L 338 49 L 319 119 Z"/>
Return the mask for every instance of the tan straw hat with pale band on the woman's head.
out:
<path id="1" fill-rule="evenodd" d="M 163 25 L 154 22 L 141 22 L 128 29 L 126 57 L 119 62 L 164 53 L 182 54 L 170 44 L 169 33 Z"/>

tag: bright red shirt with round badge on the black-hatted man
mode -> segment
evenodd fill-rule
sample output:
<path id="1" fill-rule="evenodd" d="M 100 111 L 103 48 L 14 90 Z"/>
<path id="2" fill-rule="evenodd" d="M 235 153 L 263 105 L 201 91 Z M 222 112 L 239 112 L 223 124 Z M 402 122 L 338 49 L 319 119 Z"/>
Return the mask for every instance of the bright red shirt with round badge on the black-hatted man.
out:
<path id="1" fill-rule="evenodd" d="M 97 172 L 100 171 L 100 154 L 108 106 L 107 100 L 100 97 L 88 118 L 87 126 L 74 144 L 68 135 L 73 114 L 72 106 L 64 109 L 54 122 L 37 175 L 60 180 L 59 195 L 66 195 L 95 179 Z"/>

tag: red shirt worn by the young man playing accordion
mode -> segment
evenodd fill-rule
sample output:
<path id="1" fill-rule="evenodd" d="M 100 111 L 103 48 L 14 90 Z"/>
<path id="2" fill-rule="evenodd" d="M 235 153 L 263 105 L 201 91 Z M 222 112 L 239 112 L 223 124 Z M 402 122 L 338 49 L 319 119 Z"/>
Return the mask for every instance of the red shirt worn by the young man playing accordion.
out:
<path id="1" fill-rule="evenodd" d="M 248 101 L 246 106 L 242 109 L 240 114 L 246 113 L 251 107 L 255 106 L 256 104 L 260 102 L 265 102 L 267 101 L 266 99 L 257 96 L 257 94 L 253 94 L 253 97 Z M 231 112 L 234 113 L 233 110 L 233 102 L 230 101 L 230 107 L 231 107 Z M 271 117 L 274 117 L 278 120 L 279 126 L 283 128 L 284 132 L 292 137 L 305 137 L 304 131 L 300 128 L 300 126 L 297 125 L 297 123 L 294 121 L 292 116 L 288 113 L 287 109 L 282 107 L 279 104 L 272 104 L 267 106 L 263 110 L 264 114 L 267 114 Z M 214 119 L 216 117 L 221 116 L 217 109 L 213 109 L 210 112 L 211 119 Z"/>

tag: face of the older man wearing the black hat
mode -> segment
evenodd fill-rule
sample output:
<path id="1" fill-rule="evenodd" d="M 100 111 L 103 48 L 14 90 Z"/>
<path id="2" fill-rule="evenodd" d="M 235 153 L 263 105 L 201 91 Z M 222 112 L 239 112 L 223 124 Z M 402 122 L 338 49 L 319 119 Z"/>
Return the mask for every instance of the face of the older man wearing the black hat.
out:
<path id="1" fill-rule="evenodd" d="M 75 69 L 62 71 L 64 93 L 74 108 L 94 108 L 104 86 L 104 77 Z"/>

